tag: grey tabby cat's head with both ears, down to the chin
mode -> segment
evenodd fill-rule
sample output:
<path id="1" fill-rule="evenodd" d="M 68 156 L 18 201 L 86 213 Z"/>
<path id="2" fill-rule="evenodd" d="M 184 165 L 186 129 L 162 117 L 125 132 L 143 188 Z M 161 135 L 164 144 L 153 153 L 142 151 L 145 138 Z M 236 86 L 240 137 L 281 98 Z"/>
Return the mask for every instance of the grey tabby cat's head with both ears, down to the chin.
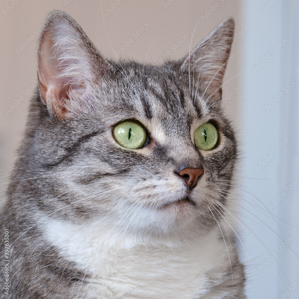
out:
<path id="1" fill-rule="evenodd" d="M 217 225 L 229 204 L 221 183 L 231 184 L 236 160 L 219 103 L 233 30 L 225 20 L 185 59 L 163 66 L 113 63 L 74 19 L 52 12 L 39 37 L 31 114 L 33 164 L 47 175 L 41 205 L 53 217 L 142 235 Z M 141 146 L 128 148 L 114 128 L 125 142 L 141 129 Z M 198 138 L 212 138 L 210 128 L 217 137 L 202 149 Z"/>

